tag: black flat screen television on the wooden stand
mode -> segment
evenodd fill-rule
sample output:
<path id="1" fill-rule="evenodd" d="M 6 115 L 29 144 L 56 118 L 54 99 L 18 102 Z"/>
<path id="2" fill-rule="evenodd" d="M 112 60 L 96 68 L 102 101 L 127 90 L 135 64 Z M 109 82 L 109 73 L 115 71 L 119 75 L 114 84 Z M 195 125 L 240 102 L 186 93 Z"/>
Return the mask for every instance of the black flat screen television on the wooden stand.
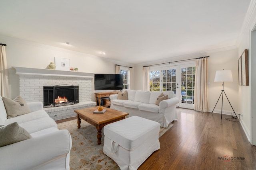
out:
<path id="1" fill-rule="evenodd" d="M 123 74 L 94 74 L 94 90 L 122 90 Z"/>

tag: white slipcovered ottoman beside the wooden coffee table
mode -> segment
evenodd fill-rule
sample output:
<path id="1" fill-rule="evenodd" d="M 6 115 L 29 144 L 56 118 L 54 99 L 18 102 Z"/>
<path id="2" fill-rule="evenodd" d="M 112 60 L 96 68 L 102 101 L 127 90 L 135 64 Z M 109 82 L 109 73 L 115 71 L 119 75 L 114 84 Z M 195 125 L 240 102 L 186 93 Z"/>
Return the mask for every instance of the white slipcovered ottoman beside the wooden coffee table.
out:
<path id="1" fill-rule="evenodd" d="M 104 126 L 103 152 L 121 170 L 136 170 L 155 150 L 160 149 L 160 123 L 138 116 Z"/>

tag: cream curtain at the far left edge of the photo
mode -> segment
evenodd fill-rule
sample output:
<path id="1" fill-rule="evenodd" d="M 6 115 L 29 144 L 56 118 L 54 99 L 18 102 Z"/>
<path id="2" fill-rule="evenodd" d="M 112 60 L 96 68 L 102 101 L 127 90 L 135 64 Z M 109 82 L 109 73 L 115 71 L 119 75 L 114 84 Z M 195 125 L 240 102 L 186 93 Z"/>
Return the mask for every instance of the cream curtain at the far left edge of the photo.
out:
<path id="1" fill-rule="evenodd" d="M 7 60 L 6 60 L 6 53 L 5 53 L 5 46 L 0 45 L 0 96 L 4 96 L 6 98 L 9 97 L 9 81 L 8 81 L 8 69 L 7 69 Z"/>

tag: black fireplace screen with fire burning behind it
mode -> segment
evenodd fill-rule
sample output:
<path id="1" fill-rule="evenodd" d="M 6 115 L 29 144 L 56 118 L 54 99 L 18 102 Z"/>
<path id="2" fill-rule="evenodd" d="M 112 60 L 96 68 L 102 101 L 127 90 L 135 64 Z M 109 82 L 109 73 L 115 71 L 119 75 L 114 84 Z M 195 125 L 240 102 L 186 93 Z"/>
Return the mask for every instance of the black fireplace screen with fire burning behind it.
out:
<path id="1" fill-rule="evenodd" d="M 66 106 L 79 103 L 79 86 L 44 86 L 44 107 Z"/>

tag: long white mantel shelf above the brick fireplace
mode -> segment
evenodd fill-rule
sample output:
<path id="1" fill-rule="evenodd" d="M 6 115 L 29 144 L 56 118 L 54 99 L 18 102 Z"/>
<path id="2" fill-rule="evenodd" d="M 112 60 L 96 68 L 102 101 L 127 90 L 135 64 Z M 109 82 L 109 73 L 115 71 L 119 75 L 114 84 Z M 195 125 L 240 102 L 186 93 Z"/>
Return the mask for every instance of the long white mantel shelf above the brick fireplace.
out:
<path id="1" fill-rule="evenodd" d="M 62 70 L 50 70 L 41 68 L 26 68 L 26 67 L 16 67 L 16 74 L 18 75 L 38 75 L 38 76 L 63 76 L 63 77 L 83 77 L 83 78 L 93 78 L 93 73 L 86 72 L 75 72 L 75 71 L 62 71 Z"/>

